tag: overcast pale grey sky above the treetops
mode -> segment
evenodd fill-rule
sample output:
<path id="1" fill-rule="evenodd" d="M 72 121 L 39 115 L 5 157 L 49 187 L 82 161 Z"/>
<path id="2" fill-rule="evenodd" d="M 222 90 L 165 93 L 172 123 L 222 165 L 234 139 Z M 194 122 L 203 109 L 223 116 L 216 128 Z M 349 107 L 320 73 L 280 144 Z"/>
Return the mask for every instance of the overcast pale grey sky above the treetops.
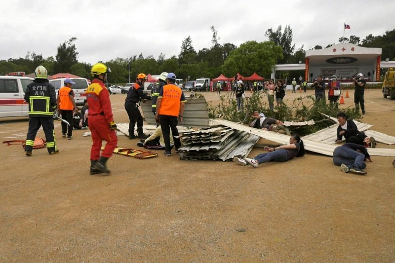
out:
<path id="1" fill-rule="evenodd" d="M 395 29 L 394 0 L 1 0 L 0 60 L 56 55 L 57 46 L 76 37 L 79 61 L 160 52 L 178 56 L 191 36 L 196 51 L 211 46 L 215 26 L 220 43 L 265 41 L 268 28 L 290 25 L 296 48 L 361 40 Z"/>

